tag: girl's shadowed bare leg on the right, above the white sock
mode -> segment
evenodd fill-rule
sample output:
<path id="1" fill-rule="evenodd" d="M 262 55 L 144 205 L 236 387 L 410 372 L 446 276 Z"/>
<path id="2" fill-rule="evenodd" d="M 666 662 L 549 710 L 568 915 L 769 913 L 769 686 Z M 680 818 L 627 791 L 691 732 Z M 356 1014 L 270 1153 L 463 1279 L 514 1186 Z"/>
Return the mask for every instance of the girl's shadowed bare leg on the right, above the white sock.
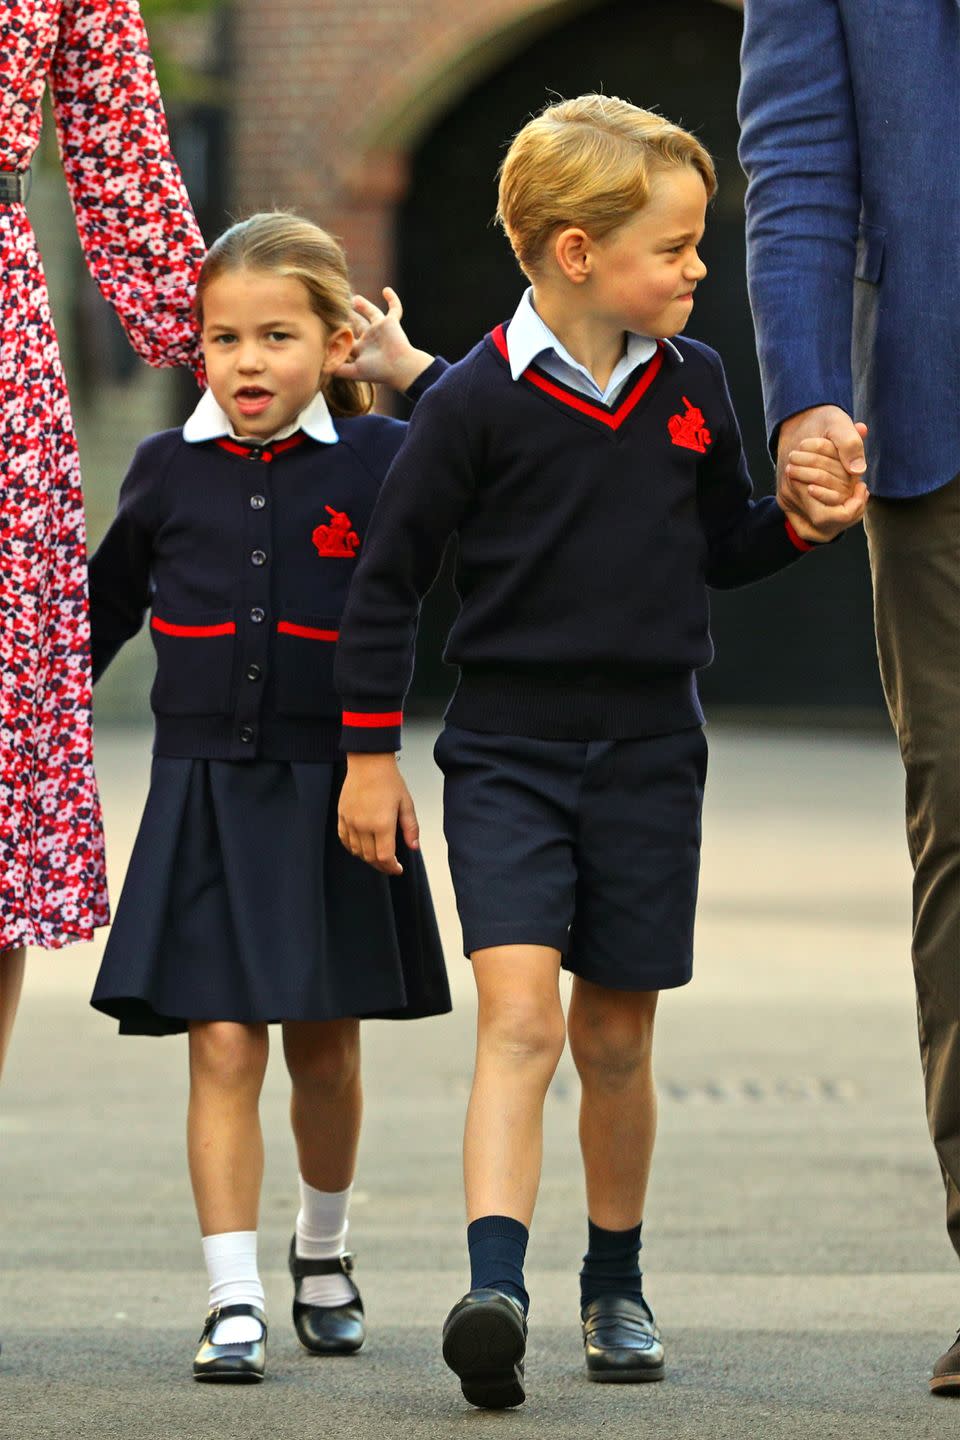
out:
<path id="1" fill-rule="evenodd" d="M 345 1189 L 363 1119 L 360 1021 L 286 1021 L 284 1056 L 299 1172 L 317 1189 Z"/>

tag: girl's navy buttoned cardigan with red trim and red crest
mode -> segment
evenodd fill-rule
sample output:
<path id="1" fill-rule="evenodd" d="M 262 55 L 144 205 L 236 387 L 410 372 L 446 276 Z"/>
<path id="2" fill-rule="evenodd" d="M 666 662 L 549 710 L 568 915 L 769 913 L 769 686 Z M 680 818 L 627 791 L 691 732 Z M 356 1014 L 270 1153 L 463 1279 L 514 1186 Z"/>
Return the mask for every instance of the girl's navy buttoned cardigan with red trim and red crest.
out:
<path id="1" fill-rule="evenodd" d="M 335 445 L 191 445 L 176 429 L 138 448 L 91 559 L 91 631 L 98 680 L 150 608 L 154 753 L 337 759 L 340 616 L 406 425 L 335 426 Z"/>

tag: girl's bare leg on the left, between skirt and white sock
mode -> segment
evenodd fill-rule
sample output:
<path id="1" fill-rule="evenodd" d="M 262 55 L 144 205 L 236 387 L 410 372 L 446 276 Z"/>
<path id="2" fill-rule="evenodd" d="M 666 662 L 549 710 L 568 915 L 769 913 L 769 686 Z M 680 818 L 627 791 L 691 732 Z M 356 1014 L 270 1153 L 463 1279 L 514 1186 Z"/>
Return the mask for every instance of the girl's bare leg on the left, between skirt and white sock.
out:
<path id="1" fill-rule="evenodd" d="M 203 1236 L 256 1230 L 268 1048 L 266 1025 L 190 1024 L 187 1156 Z"/>

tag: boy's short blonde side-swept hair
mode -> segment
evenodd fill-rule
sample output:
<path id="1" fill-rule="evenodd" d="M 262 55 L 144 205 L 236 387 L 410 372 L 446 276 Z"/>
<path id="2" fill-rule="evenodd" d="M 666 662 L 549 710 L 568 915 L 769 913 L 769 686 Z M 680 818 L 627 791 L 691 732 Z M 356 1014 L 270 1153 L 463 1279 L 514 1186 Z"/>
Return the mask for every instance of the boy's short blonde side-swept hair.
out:
<path id="1" fill-rule="evenodd" d="M 658 171 L 679 166 L 714 194 L 714 163 L 689 131 L 616 95 L 558 101 L 514 135 L 499 167 L 497 219 L 533 275 L 560 226 L 603 239 L 646 204 Z"/>

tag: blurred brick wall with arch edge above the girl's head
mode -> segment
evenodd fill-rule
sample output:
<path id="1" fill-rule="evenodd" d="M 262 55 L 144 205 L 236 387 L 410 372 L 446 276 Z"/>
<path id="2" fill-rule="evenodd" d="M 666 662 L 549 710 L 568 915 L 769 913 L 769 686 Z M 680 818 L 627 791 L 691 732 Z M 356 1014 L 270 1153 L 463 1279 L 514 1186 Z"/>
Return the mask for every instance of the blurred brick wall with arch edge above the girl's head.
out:
<path id="1" fill-rule="evenodd" d="M 237 212 L 284 204 L 317 217 L 344 238 L 357 287 L 376 294 L 423 130 L 537 33 L 599 3 L 412 0 L 400 20 L 383 0 L 237 0 Z"/>

